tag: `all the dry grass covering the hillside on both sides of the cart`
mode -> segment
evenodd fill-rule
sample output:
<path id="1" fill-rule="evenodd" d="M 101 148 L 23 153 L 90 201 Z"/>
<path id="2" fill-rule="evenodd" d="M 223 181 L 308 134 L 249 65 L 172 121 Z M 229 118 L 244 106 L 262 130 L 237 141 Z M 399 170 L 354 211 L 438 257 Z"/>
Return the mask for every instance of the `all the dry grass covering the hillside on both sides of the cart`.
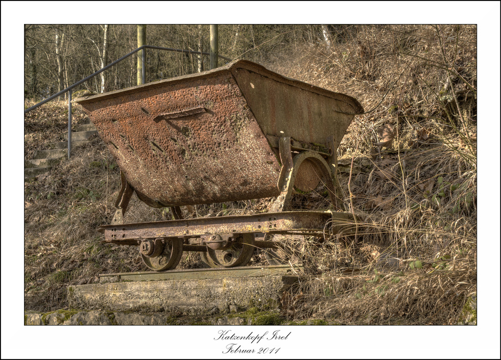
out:
<path id="1" fill-rule="evenodd" d="M 456 323 L 476 292 L 476 28 L 352 26 L 331 48 L 295 44 L 279 55 L 265 65 L 352 95 L 367 112 L 338 153 L 339 195 L 360 216 L 357 235 L 293 244 L 308 275 L 284 296 L 285 314 Z M 101 272 L 145 269 L 135 249 L 99 243 L 96 228 L 111 221 L 118 186 L 118 168 L 99 141 L 25 185 L 27 308 L 62 307 L 66 285 Z M 257 213 L 271 200 L 183 210 Z M 328 205 L 319 194 L 292 200 L 295 209 Z M 127 222 L 170 218 L 137 199 L 130 209 Z M 199 266 L 197 254 L 183 255 L 181 267 Z"/>

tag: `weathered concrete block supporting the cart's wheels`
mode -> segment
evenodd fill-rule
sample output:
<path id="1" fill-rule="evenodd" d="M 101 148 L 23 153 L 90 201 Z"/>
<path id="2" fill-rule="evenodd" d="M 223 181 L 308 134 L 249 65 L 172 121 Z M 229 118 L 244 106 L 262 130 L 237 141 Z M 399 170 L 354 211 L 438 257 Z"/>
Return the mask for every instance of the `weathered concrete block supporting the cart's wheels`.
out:
<path id="1" fill-rule="evenodd" d="M 299 280 L 299 269 L 289 268 L 291 271 L 284 274 L 287 268 L 267 266 L 223 271 L 196 269 L 188 272 L 134 273 L 134 276 L 143 276 L 146 281 L 123 281 L 122 277 L 127 274 L 109 274 L 102 276 L 101 280 L 108 277 L 107 280 L 118 282 L 70 286 L 68 300 L 70 307 L 86 310 L 168 311 L 175 315 L 225 313 L 232 308 L 273 309 L 279 307 L 280 297 L 287 287 Z M 246 274 L 244 277 L 231 277 L 237 276 L 238 271 Z M 186 273 L 190 272 L 191 278 L 187 278 Z M 152 280 L 155 275 L 171 278 Z"/>

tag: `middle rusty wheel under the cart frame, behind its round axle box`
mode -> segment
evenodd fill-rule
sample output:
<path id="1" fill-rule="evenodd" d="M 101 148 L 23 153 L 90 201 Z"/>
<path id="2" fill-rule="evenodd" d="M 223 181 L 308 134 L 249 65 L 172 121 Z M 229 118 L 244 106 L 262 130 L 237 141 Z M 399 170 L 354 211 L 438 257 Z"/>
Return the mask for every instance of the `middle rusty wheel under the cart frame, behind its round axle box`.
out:
<path id="1" fill-rule="evenodd" d="M 213 250 L 207 246 L 208 264 L 210 267 L 244 266 L 252 258 L 254 248 L 254 234 L 241 234 L 235 242 L 224 249 Z"/>

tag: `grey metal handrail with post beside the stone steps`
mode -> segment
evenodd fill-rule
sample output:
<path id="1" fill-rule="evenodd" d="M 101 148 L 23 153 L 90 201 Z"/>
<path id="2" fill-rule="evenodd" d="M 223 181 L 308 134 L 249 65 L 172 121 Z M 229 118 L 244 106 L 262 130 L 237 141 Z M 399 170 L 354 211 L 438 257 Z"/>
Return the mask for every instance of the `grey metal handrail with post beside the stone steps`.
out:
<path id="1" fill-rule="evenodd" d="M 143 45 L 143 46 L 137 48 L 136 50 L 131 51 L 129 54 L 122 56 L 120 59 L 115 60 L 113 63 L 105 66 L 101 70 L 96 71 L 94 74 L 89 75 L 85 79 L 80 80 L 79 82 L 77 82 L 77 83 L 75 83 L 75 84 L 67 87 L 66 89 L 61 90 L 59 93 L 54 94 L 53 96 L 51 96 L 51 97 L 49 97 L 49 98 L 47 98 L 45 100 L 42 100 L 40 103 L 38 103 L 36 105 L 33 105 L 31 108 L 26 109 L 25 110 L 25 114 L 29 113 L 32 110 L 35 110 L 39 106 L 44 105 L 45 103 L 48 103 L 51 100 L 53 100 L 53 99 L 55 99 L 55 98 L 57 98 L 57 97 L 65 94 L 66 92 L 69 92 L 68 93 L 68 159 L 69 159 L 70 158 L 70 152 L 71 152 L 71 90 L 73 88 L 75 88 L 76 86 L 79 86 L 80 84 L 85 83 L 87 80 L 92 79 L 96 75 L 101 74 L 103 71 L 108 70 L 113 65 L 118 64 L 122 60 L 128 58 L 129 56 L 131 56 L 131 55 L 133 55 L 133 54 L 135 54 L 138 51 L 141 51 L 143 49 L 167 50 L 167 51 L 175 51 L 175 52 L 178 52 L 178 53 L 199 54 L 199 55 L 209 55 L 210 56 L 210 53 L 205 53 L 205 52 L 201 52 L 201 51 L 181 50 L 181 49 L 163 48 L 163 47 L 160 47 L 160 46 Z M 221 59 L 224 59 L 224 60 L 227 60 L 227 61 L 231 61 L 231 59 L 226 58 L 225 56 L 218 55 L 217 57 L 221 58 Z"/>

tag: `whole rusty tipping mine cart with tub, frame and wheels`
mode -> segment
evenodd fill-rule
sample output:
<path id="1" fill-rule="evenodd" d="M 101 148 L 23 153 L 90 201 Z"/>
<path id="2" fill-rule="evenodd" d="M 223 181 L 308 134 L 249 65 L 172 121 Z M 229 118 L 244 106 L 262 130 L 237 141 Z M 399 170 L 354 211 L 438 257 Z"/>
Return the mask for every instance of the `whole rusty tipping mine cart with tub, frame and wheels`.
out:
<path id="1" fill-rule="evenodd" d="M 155 271 L 199 251 L 210 267 L 243 266 L 255 249 L 286 263 L 281 235 L 322 237 L 353 227 L 338 211 L 287 211 L 291 194 L 324 184 L 335 204 L 336 152 L 360 103 L 240 60 L 77 100 L 121 170 L 106 242 L 138 245 Z M 175 220 L 123 223 L 135 192 Z M 180 206 L 277 197 L 269 212 L 183 219 Z M 263 256 L 262 256 L 263 257 Z"/>

